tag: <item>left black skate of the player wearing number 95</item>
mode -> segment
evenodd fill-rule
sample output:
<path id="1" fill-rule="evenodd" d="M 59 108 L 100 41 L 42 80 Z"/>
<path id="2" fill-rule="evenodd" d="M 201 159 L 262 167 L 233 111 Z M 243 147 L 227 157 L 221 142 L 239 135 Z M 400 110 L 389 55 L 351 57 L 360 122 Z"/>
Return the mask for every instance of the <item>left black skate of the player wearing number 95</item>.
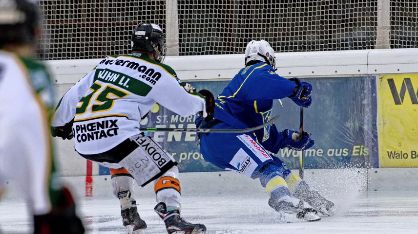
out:
<path id="1" fill-rule="evenodd" d="M 121 215 L 129 234 L 145 234 L 146 223 L 138 214 L 136 201 L 130 198 L 129 191 L 118 193 L 121 202 Z"/>

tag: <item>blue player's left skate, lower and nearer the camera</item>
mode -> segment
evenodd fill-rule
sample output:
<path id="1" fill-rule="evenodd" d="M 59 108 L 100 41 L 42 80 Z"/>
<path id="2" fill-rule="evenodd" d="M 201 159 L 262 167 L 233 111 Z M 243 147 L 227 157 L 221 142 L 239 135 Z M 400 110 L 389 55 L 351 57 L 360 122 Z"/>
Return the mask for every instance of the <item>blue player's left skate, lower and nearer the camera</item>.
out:
<path id="1" fill-rule="evenodd" d="M 299 203 L 294 205 L 292 198 L 289 196 L 279 200 L 270 198 L 269 205 L 281 215 L 281 220 L 284 222 L 313 222 L 321 220 L 314 209 L 303 207 L 302 200 L 299 200 Z"/>

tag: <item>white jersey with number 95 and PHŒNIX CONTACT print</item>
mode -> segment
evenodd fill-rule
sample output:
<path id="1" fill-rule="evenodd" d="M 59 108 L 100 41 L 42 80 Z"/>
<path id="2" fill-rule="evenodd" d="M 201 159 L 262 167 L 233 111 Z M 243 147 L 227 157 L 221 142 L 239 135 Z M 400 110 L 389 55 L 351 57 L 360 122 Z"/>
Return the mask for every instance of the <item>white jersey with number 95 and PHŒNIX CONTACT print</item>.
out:
<path id="1" fill-rule="evenodd" d="M 206 115 L 201 95 L 188 93 L 175 72 L 147 54 L 108 56 L 65 93 L 52 126 L 74 118 L 75 148 L 98 154 L 139 134 L 140 120 L 156 104 L 181 115 Z"/>

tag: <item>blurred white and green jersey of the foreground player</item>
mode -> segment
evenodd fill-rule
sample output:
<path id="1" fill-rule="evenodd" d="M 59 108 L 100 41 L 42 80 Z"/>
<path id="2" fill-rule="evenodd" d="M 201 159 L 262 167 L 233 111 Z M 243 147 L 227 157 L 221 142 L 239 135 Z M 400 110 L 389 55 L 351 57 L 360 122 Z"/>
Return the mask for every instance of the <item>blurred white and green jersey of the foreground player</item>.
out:
<path id="1" fill-rule="evenodd" d="M 0 180 L 15 178 L 34 214 L 57 206 L 50 118 L 54 92 L 45 67 L 0 50 Z"/>

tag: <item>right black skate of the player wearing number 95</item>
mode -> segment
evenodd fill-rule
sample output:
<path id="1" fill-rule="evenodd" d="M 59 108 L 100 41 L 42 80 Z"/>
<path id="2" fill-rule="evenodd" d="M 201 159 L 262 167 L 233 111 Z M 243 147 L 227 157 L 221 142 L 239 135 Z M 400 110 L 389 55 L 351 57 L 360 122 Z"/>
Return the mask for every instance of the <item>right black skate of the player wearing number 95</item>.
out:
<path id="1" fill-rule="evenodd" d="M 178 210 L 168 211 L 164 202 L 158 203 L 154 211 L 164 220 L 168 234 L 205 234 L 203 224 L 192 224 L 180 217 Z"/>

